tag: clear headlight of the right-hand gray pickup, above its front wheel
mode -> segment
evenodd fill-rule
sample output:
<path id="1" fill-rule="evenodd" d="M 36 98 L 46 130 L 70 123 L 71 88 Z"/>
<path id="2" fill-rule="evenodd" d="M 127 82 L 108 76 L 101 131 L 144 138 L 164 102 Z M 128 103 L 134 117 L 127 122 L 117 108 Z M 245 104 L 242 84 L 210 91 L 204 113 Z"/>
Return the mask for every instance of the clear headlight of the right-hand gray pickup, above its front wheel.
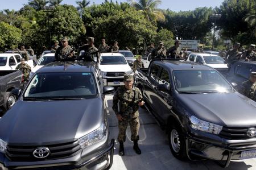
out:
<path id="1" fill-rule="evenodd" d="M 205 131 L 217 135 L 220 134 L 220 131 L 222 130 L 222 126 L 206 121 L 201 121 L 194 116 L 190 117 L 189 120 L 191 122 L 191 127 L 196 130 Z"/>

